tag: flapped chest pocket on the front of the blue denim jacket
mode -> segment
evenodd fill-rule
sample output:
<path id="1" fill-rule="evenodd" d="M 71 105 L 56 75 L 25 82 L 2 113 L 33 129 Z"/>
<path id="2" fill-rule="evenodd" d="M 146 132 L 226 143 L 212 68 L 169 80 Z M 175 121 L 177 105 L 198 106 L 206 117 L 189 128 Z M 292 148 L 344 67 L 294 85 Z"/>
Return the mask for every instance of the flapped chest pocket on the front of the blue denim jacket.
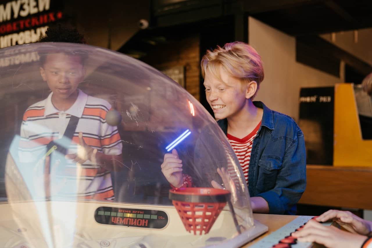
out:
<path id="1" fill-rule="evenodd" d="M 262 156 L 258 162 L 258 178 L 256 195 L 272 190 L 276 184 L 278 170 L 282 168 L 283 162 L 275 156 Z"/>

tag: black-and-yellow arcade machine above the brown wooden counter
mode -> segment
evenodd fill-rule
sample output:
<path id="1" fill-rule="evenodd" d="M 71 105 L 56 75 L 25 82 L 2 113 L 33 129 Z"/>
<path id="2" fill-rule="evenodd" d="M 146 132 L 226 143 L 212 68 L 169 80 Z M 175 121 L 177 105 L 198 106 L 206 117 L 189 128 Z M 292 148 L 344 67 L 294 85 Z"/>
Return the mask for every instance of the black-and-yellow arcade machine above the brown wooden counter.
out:
<path id="1" fill-rule="evenodd" d="M 302 88 L 299 125 L 308 164 L 372 166 L 372 98 L 361 85 Z"/>

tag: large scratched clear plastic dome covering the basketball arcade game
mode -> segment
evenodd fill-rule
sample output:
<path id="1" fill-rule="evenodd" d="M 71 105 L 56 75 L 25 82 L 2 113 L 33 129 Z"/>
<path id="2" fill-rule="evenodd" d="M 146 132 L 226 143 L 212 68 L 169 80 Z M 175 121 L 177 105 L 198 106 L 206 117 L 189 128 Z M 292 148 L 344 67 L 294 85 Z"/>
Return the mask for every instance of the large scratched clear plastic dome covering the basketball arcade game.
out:
<path id="1" fill-rule="evenodd" d="M 259 232 L 224 133 L 154 68 L 89 45 L 37 43 L 0 50 L 0 82 L 0 247 L 235 246 Z M 169 193 L 183 189 L 161 171 L 173 149 L 196 189 L 196 200 L 176 197 L 183 210 Z M 213 194 L 212 180 L 228 194 Z"/>

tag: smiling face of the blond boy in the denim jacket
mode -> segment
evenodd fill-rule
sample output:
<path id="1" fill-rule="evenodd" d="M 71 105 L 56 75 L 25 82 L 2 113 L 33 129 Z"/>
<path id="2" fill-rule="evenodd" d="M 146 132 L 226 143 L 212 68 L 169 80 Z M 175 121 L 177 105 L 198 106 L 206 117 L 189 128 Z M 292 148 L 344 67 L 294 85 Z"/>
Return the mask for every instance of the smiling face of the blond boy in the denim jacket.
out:
<path id="1" fill-rule="evenodd" d="M 243 110 L 247 101 L 246 88 L 239 79 L 231 77 L 222 67 L 221 79 L 206 70 L 204 77 L 206 99 L 211 105 L 215 118 L 233 117 Z"/>

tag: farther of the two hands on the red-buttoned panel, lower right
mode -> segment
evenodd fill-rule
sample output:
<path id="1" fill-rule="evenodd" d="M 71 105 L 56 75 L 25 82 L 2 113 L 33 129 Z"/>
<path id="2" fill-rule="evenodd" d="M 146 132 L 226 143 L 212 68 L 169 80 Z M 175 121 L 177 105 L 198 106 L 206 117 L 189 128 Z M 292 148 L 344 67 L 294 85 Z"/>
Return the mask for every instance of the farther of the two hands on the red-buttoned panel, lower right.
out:
<path id="1" fill-rule="evenodd" d="M 368 235 L 371 232 L 371 225 L 366 220 L 350 213 L 349 211 L 339 210 L 328 210 L 321 214 L 315 220 L 318 222 L 325 222 L 327 220 L 333 220 L 339 223 L 340 226 L 348 230 L 349 232 L 359 233 L 362 235 Z"/>

